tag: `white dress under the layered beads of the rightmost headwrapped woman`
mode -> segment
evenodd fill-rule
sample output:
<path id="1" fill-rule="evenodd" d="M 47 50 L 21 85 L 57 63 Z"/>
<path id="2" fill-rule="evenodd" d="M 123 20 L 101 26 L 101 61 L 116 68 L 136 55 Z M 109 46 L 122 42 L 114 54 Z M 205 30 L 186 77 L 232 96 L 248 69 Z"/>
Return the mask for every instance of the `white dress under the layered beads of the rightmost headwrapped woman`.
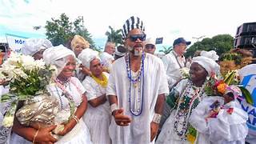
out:
<path id="1" fill-rule="evenodd" d="M 184 79 L 181 82 L 178 82 L 178 85 L 175 87 L 175 90 L 178 90 L 180 95 L 184 95 L 184 97 L 182 98 L 187 98 L 186 100 L 194 98 L 193 104 L 190 106 L 189 110 L 191 112 L 191 110 L 194 109 L 194 106 L 197 106 L 198 102 L 201 102 L 202 98 L 206 97 L 206 94 L 203 93 L 203 86 L 194 86 L 194 89 L 192 89 L 191 85 L 189 85 L 188 82 L 188 79 Z M 198 90 L 197 95 L 194 93 L 194 90 Z M 197 97 L 193 97 L 192 95 Z M 182 107 L 182 104 L 181 101 L 178 101 L 177 110 L 171 111 L 170 116 L 166 119 L 166 122 L 162 126 L 162 130 L 158 135 L 158 139 L 156 141 L 157 144 L 190 144 L 190 142 L 186 140 L 186 130 L 188 130 L 188 118 L 190 118 L 190 112 L 187 115 L 181 114 L 179 113 L 180 107 Z M 176 118 L 179 119 L 176 120 Z M 177 123 L 175 124 L 175 122 Z M 176 130 L 174 128 L 175 125 L 177 126 Z M 182 133 L 182 131 L 184 132 Z M 182 136 L 178 135 L 178 133 L 182 133 Z"/>

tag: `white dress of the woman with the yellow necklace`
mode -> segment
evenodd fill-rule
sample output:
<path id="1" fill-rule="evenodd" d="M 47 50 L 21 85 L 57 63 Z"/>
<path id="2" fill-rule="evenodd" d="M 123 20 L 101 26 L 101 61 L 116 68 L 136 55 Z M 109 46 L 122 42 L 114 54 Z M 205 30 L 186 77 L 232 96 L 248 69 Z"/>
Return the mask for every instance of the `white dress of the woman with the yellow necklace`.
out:
<path id="1" fill-rule="evenodd" d="M 109 74 L 104 72 L 103 74 L 109 78 Z M 102 94 L 106 94 L 106 88 L 99 85 L 90 76 L 86 77 L 82 82 L 82 85 L 86 89 L 86 97 L 88 101 L 98 98 L 99 96 L 102 96 Z M 89 128 L 90 139 L 93 143 L 111 143 L 109 134 L 110 119 L 111 114 L 109 102 L 106 101 L 104 104 L 97 107 L 90 106 L 88 103 L 86 113 L 83 115 L 83 120 Z"/>

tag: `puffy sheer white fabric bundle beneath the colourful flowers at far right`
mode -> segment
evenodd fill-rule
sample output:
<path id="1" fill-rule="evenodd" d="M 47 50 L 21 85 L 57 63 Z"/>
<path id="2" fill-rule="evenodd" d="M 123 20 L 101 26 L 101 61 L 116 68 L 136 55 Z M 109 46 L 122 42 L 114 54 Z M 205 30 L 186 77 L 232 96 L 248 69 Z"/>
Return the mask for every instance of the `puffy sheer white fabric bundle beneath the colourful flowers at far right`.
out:
<path id="1" fill-rule="evenodd" d="M 216 118 L 206 117 L 211 108 L 210 105 L 216 100 L 223 106 L 222 97 L 209 97 L 202 100 L 199 105 L 192 111 L 190 116 L 190 124 L 198 130 L 199 135 L 207 141 L 204 144 L 243 144 L 245 143 L 248 128 L 246 121 L 248 114 L 242 110 L 241 105 L 237 101 L 232 101 L 224 105 L 226 109 L 221 109 Z M 228 108 L 233 108 L 232 114 L 228 114 Z M 198 143 L 202 143 L 199 141 Z"/>

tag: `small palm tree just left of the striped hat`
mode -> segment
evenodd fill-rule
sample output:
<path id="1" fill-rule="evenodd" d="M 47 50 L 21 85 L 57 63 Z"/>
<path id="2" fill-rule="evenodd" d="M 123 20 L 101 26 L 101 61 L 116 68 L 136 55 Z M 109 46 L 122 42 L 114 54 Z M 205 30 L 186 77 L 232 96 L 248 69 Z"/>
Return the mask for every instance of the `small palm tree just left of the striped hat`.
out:
<path id="1" fill-rule="evenodd" d="M 114 30 L 113 27 L 109 26 L 110 31 L 106 31 L 105 35 L 107 36 L 106 42 L 114 42 L 115 44 L 122 44 L 122 34 L 121 29 Z"/>

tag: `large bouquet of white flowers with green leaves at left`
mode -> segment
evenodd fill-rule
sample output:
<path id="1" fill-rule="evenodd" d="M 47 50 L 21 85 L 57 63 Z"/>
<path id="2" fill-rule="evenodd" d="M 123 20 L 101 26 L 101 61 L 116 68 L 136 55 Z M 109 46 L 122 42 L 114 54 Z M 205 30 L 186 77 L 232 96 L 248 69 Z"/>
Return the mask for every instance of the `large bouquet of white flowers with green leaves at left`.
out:
<path id="1" fill-rule="evenodd" d="M 10 58 L 8 58 L 0 68 L 0 80 L 8 82 L 10 85 L 9 93 L 2 95 L 2 102 L 11 102 L 10 110 L 7 110 L 3 118 L 3 126 L 11 127 L 13 125 L 14 114 L 19 101 L 22 101 L 24 103 L 23 107 L 27 109 L 30 108 L 29 105 L 32 103 L 29 100 L 42 94 L 44 97 L 41 97 L 41 99 L 36 98 L 33 102 L 46 102 L 46 86 L 52 82 L 51 79 L 55 71 L 57 71 L 55 66 L 48 66 L 42 60 L 34 60 L 33 57 L 22 54 L 10 54 Z M 50 100 L 47 102 L 50 102 Z M 48 105 L 44 104 L 43 106 L 48 106 L 48 108 L 50 108 L 50 106 L 56 107 L 58 106 L 58 102 L 50 102 Z M 30 111 L 30 114 L 28 114 L 29 110 L 22 110 L 22 108 L 20 111 L 23 111 L 23 113 L 20 112 L 19 118 L 26 118 L 26 121 L 30 122 L 33 118 L 37 117 L 35 110 Z M 34 108 L 37 109 L 37 107 Z M 48 110 L 48 113 L 49 112 Z M 30 118 L 28 118 L 28 116 L 30 116 Z M 18 120 L 20 121 L 21 119 L 19 118 Z M 26 124 L 26 122 L 24 122 L 24 124 Z"/>

